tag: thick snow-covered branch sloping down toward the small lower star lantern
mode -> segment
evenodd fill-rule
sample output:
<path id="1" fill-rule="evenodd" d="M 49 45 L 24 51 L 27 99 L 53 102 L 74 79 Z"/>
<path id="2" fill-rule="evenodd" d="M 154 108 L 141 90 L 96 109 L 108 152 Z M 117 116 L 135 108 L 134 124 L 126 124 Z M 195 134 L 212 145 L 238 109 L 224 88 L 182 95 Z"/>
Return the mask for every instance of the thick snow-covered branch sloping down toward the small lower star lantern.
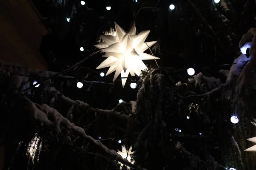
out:
<path id="1" fill-rule="evenodd" d="M 96 146 L 98 146 L 101 150 L 103 150 L 105 153 L 107 153 L 109 156 L 113 157 L 116 161 L 121 162 L 122 164 L 127 165 L 128 167 L 136 168 L 134 164 L 129 162 L 127 159 L 123 159 L 122 156 L 120 156 L 118 153 L 116 153 L 115 150 L 110 150 L 108 147 L 106 147 L 104 144 L 102 144 L 99 140 L 93 139 L 91 136 L 87 135 L 84 132 L 84 129 L 74 125 L 71 123 L 67 118 L 61 115 L 58 111 L 56 111 L 54 108 L 49 107 L 46 104 L 38 105 L 33 102 L 31 102 L 29 99 L 26 98 L 28 101 L 27 109 L 29 111 L 29 115 L 31 118 L 41 122 L 41 125 L 53 125 L 55 124 L 55 133 L 60 133 L 61 128 L 60 126 L 67 127 L 68 129 L 71 129 L 77 133 L 79 133 L 81 136 L 83 136 L 85 139 L 89 140 Z M 83 105 L 86 105 L 86 103 L 82 103 Z M 54 122 L 50 121 L 48 118 L 53 118 Z M 145 170 L 144 168 L 141 168 L 142 170 Z"/>

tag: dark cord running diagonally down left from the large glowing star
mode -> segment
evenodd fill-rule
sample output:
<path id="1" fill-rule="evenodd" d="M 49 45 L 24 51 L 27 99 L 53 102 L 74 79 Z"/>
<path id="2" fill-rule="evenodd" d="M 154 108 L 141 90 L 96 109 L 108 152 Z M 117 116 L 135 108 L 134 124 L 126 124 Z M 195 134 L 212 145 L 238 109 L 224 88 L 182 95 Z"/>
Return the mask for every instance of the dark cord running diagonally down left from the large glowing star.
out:
<path id="1" fill-rule="evenodd" d="M 99 51 L 102 51 L 102 49 L 99 50 Z M 57 73 L 57 74 L 54 74 L 54 75 L 52 75 L 52 76 L 49 76 L 49 77 L 46 77 L 46 78 L 42 79 L 40 82 L 36 83 L 35 85 L 32 85 L 32 86 L 30 86 L 29 88 L 23 90 L 23 92 L 27 92 L 27 91 L 29 91 L 30 89 L 35 88 L 36 85 L 39 85 L 40 83 L 42 83 L 42 82 L 44 82 L 44 81 L 46 81 L 46 80 L 48 80 L 48 79 L 50 79 L 50 78 L 52 78 L 52 77 L 58 76 L 58 75 L 60 75 L 60 74 L 66 74 L 67 72 L 71 71 L 72 68 L 75 68 L 76 66 L 81 65 L 83 62 L 85 62 L 87 59 L 89 59 L 91 56 L 93 56 L 94 54 L 98 53 L 99 51 L 93 52 L 92 54 L 90 54 L 90 55 L 89 55 L 88 57 L 86 57 L 85 59 L 81 60 L 80 62 L 76 63 L 75 65 L 71 66 L 70 68 L 67 68 L 67 69 L 64 70 L 64 71 L 61 71 L 61 72 L 59 72 L 59 73 Z"/>

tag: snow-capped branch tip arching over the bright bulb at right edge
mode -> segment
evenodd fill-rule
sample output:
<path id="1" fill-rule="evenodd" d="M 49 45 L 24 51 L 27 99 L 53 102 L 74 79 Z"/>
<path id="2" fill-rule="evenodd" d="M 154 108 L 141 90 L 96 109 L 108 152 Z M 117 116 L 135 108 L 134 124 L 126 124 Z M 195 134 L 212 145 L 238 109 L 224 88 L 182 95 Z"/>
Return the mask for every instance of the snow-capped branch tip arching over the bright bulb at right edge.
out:
<path id="1" fill-rule="evenodd" d="M 253 50 L 256 49 L 256 28 L 250 28 L 248 32 L 243 35 L 242 39 L 239 42 L 239 47 L 242 48 L 248 43 L 251 37 L 253 37 L 253 41 L 250 42 L 250 54 L 252 54 Z"/>

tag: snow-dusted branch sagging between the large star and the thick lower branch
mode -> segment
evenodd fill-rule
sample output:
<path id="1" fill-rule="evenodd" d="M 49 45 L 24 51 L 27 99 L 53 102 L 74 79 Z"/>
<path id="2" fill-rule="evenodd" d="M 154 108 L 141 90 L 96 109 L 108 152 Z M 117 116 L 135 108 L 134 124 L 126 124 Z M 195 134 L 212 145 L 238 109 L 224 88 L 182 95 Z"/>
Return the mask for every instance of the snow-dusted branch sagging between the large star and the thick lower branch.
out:
<path id="1" fill-rule="evenodd" d="M 99 113 L 99 114 L 105 114 L 105 115 L 111 115 L 111 116 L 115 116 L 118 117 L 120 119 L 125 119 L 128 120 L 129 116 L 123 112 L 118 112 L 115 111 L 115 108 L 111 109 L 111 110 L 103 110 L 103 109 L 98 109 L 98 108 L 91 108 L 87 103 L 82 102 L 80 100 L 72 100 L 64 95 L 62 95 L 59 91 L 57 91 L 55 88 L 49 88 L 50 92 L 53 92 L 55 94 L 55 97 L 60 97 L 61 99 L 65 100 L 67 103 L 69 103 L 70 105 L 74 105 L 75 103 L 78 103 L 79 106 L 82 107 L 86 107 L 87 111 L 93 112 L 93 113 Z M 128 113 L 130 114 L 130 113 Z"/>

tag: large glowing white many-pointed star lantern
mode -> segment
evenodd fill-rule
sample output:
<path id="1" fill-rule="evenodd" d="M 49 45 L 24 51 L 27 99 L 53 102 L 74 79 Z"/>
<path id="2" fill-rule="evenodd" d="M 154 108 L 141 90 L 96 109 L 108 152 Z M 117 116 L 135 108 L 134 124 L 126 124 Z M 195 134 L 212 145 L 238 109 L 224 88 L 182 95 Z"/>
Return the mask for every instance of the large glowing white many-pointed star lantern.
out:
<path id="1" fill-rule="evenodd" d="M 103 49 L 107 57 L 96 69 L 110 67 L 106 75 L 115 72 L 113 81 L 121 74 L 121 77 L 141 75 L 141 70 L 147 69 L 142 62 L 146 59 L 159 59 L 152 55 L 143 53 L 146 49 L 154 45 L 156 41 L 144 42 L 150 31 L 142 31 L 136 35 L 135 23 L 131 30 L 126 33 L 119 25 L 115 23 L 116 35 L 101 35 L 104 42 L 95 45 Z M 122 79 L 122 86 L 125 86 L 127 79 Z"/>

